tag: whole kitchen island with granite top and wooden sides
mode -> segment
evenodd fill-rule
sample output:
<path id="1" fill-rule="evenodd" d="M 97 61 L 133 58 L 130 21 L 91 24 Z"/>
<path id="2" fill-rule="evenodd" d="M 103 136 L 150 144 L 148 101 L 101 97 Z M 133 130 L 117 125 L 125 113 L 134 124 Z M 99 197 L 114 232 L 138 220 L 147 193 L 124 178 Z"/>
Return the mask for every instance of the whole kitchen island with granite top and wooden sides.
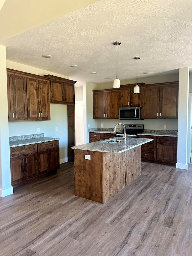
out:
<path id="1" fill-rule="evenodd" d="M 75 195 L 105 203 L 141 174 L 146 138 L 122 137 L 73 146 Z"/>

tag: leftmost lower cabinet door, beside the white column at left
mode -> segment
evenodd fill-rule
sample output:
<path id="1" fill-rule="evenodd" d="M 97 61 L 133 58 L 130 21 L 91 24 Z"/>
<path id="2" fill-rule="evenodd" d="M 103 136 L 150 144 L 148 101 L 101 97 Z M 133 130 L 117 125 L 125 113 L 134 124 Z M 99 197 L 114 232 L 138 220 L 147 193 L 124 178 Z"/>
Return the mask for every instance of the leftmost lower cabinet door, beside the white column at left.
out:
<path id="1" fill-rule="evenodd" d="M 23 156 L 10 159 L 11 185 L 22 183 L 25 180 Z"/>

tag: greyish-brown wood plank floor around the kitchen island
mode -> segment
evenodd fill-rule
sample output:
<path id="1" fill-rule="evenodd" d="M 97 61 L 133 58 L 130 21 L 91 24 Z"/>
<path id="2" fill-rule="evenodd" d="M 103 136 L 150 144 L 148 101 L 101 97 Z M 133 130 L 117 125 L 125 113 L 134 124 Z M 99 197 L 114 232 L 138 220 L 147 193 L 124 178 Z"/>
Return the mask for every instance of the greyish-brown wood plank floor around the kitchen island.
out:
<path id="1" fill-rule="evenodd" d="M 141 170 L 105 204 L 74 196 L 72 163 L 14 189 L 0 198 L 0 255 L 192 255 L 192 165 Z"/>

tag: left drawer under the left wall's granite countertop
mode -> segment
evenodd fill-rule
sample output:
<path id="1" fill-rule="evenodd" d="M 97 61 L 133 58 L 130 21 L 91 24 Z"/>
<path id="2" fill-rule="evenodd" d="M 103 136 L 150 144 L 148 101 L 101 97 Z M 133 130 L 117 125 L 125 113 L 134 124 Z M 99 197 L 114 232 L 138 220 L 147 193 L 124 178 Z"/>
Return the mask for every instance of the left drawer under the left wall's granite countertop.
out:
<path id="1" fill-rule="evenodd" d="M 37 152 L 37 144 L 18 146 L 18 147 L 10 148 L 10 157 L 28 155 L 35 152 Z"/>

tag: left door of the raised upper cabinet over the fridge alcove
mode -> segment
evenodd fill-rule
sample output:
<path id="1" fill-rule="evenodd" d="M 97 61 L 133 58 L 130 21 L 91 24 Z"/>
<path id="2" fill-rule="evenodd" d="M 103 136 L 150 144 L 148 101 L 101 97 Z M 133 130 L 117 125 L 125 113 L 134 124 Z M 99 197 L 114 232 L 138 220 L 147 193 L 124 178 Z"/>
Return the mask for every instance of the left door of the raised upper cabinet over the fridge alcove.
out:
<path id="1" fill-rule="evenodd" d="M 51 103 L 64 104 L 64 83 L 51 81 Z"/>

